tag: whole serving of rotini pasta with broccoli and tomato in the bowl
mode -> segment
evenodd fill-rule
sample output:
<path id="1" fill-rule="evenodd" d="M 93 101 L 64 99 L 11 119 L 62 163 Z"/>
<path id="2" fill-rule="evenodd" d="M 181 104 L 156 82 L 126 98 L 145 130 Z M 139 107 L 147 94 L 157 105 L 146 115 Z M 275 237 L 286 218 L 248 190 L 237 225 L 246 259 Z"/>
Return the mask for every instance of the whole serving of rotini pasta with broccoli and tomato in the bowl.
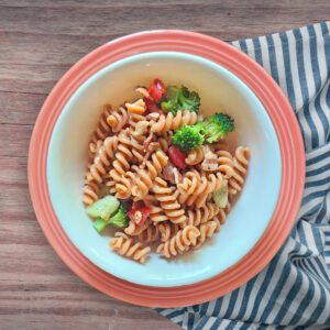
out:
<path id="1" fill-rule="evenodd" d="M 88 144 L 82 188 L 97 231 L 118 228 L 110 248 L 144 263 L 152 249 L 170 258 L 200 248 L 227 221 L 251 152 L 224 138 L 233 120 L 198 114 L 200 98 L 155 79 L 139 99 L 105 106 Z M 211 129 L 209 129 L 211 127 Z"/>

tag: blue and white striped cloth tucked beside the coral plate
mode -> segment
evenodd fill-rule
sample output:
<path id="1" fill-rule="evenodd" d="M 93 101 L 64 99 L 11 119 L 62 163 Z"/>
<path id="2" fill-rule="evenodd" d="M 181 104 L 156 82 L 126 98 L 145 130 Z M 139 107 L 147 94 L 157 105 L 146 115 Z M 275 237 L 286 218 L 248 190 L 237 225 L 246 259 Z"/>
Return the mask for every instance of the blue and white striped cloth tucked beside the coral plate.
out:
<path id="1" fill-rule="evenodd" d="M 330 329 L 330 22 L 233 42 L 287 95 L 306 150 L 301 209 L 253 279 L 216 300 L 157 309 L 185 329 Z"/>

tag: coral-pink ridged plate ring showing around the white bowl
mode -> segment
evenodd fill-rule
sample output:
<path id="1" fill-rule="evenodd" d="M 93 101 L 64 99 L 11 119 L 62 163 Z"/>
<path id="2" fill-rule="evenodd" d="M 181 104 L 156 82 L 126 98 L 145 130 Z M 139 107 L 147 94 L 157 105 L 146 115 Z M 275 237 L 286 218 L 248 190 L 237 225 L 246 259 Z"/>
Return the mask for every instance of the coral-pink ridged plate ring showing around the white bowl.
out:
<path id="1" fill-rule="evenodd" d="M 241 79 L 260 99 L 276 131 L 282 156 L 282 185 L 272 220 L 255 246 L 221 274 L 179 287 L 151 287 L 125 282 L 87 260 L 69 241 L 53 210 L 46 180 L 51 134 L 67 100 L 88 77 L 110 63 L 139 53 L 174 51 L 205 57 Z M 51 116 L 52 114 L 52 116 Z M 107 295 L 148 307 L 179 307 L 222 296 L 256 275 L 275 255 L 295 223 L 305 184 L 305 151 L 295 113 L 273 78 L 252 58 L 208 35 L 157 30 L 127 35 L 92 51 L 56 84 L 37 117 L 29 150 L 29 188 L 36 218 L 50 244 L 80 278 Z"/>

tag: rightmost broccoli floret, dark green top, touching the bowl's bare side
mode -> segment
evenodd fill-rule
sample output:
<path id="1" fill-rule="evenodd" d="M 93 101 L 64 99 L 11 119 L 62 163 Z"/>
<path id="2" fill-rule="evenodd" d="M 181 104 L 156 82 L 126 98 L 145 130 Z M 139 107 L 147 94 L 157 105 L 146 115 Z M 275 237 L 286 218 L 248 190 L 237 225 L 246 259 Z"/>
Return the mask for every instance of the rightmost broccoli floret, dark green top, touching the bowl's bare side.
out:
<path id="1" fill-rule="evenodd" d="M 224 139 L 234 130 L 234 120 L 226 113 L 213 113 L 202 122 L 205 140 L 209 143 Z"/>

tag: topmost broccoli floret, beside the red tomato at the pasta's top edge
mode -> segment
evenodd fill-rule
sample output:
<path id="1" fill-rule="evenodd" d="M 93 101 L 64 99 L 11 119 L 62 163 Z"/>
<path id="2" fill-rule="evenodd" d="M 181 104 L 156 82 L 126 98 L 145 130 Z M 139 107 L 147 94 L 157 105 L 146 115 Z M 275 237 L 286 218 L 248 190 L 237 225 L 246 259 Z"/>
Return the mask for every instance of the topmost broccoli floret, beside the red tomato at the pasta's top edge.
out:
<path id="1" fill-rule="evenodd" d="M 187 87 L 168 86 L 166 89 L 167 97 L 161 103 L 165 112 L 176 114 L 179 110 L 189 110 L 198 112 L 200 107 L 200 97 L 196 91 L 190 91 Z"/>

